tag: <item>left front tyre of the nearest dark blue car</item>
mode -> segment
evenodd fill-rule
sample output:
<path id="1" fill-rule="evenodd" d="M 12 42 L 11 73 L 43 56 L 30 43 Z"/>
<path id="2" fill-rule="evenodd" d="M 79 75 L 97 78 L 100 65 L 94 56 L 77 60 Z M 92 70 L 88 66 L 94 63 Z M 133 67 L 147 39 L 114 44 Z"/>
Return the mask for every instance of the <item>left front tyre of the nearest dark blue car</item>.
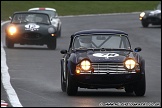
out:
<path id="1" fill-rule="evenodd" d="M 69 96 L 74 96 L 78 92 L 78 86 L 76 82 L 72 79 L 72 77 L 70 76 L 69 72 L 66 78 L 66 92 Z"/>

